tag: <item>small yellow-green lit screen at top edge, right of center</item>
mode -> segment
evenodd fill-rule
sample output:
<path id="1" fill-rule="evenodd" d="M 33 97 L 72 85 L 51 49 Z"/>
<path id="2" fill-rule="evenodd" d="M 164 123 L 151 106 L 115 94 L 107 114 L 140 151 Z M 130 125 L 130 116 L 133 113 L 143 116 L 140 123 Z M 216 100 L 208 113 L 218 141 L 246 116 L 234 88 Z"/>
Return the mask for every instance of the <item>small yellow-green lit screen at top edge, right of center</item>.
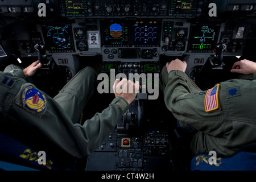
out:
<path id="1" fill-rule="evenodd" d="M 193 1 L 195 0 L 174 0 L 174 14 L 191 14 Z"/>

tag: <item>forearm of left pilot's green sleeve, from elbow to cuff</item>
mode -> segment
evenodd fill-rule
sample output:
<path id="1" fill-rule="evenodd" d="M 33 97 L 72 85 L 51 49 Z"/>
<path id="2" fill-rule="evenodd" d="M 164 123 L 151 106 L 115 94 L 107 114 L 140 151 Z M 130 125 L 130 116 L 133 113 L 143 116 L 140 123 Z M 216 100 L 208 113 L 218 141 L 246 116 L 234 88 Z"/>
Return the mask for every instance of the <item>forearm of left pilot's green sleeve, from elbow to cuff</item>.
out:
<path id="1" fill-rule="evenodd" d="M 122 97 L 114 98 L 109 107 L 96 113 L 84 125 L 74 124 L 79 143 L 84 149 L 83 155 L 90 155 L 113 131 L 122 115 L 129 109 L 129 104 Z"/>

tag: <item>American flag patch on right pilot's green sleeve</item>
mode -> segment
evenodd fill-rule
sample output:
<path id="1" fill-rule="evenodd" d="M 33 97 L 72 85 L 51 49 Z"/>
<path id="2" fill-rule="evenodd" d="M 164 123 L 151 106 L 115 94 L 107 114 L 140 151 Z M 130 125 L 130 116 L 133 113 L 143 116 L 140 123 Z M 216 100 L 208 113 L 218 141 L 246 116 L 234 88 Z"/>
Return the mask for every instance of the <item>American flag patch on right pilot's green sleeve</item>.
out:
<path id="1" fill-rule="evenodd" d="M 218 109 L 218 88 L 220 84 L 217 84 L 212 89 L 207 91 L 204 99 L 205 111 L 213 111 Z"/>

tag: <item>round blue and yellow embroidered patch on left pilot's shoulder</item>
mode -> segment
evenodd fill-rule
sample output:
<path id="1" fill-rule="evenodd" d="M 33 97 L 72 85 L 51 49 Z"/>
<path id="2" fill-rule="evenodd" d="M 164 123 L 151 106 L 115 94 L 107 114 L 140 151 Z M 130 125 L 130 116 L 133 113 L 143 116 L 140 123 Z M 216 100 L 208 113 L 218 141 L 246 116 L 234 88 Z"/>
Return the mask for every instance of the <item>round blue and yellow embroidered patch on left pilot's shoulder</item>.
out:
<path id="1" fill-rule="evenodd" d="M 22 106 L 27 106 L 29 109 L 36 110 L 36 113 L 41 113 L 47 106 L 46 96 L 38 89 L 27 86 L 21 94 Z"/>

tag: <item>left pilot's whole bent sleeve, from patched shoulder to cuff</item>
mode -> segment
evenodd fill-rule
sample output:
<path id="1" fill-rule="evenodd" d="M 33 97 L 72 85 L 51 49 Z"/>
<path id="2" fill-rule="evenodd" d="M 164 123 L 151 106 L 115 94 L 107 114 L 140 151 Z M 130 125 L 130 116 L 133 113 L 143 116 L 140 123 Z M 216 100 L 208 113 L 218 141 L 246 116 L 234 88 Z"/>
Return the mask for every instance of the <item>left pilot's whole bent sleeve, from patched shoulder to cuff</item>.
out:
<path id="1" fill-rule="evenodd" d="M 11 76 L 9 78 L 19 79 Z M 24 82 L 21 87 L 17 83 L 18 81 L 15 81 L 12 88 L 3 86 L 13 90 L 12 92 L 19 89 L 13 99 L 8 98 L 13 102 L 7 111 L 5 125 L 11 129 L 13 135 L 18 136 L 20 142 L 31 142 L 35 145 L 34 139 L 40 141 L 36 145 L 39 147 L 36 150 L 43 150 L 46 153 L 65 151 L 75 158 L 84 158 L 92 154 L 129 109 L 129 104 L 124 98 L 116 97 L 102 113 L 96 113 L 83 125 L 74 124 L 53 98 L 30 83 Z M 40 105 L 33 104 L 38 97 Z M 29 143 L 27 144 L 29 146 Z"/>

